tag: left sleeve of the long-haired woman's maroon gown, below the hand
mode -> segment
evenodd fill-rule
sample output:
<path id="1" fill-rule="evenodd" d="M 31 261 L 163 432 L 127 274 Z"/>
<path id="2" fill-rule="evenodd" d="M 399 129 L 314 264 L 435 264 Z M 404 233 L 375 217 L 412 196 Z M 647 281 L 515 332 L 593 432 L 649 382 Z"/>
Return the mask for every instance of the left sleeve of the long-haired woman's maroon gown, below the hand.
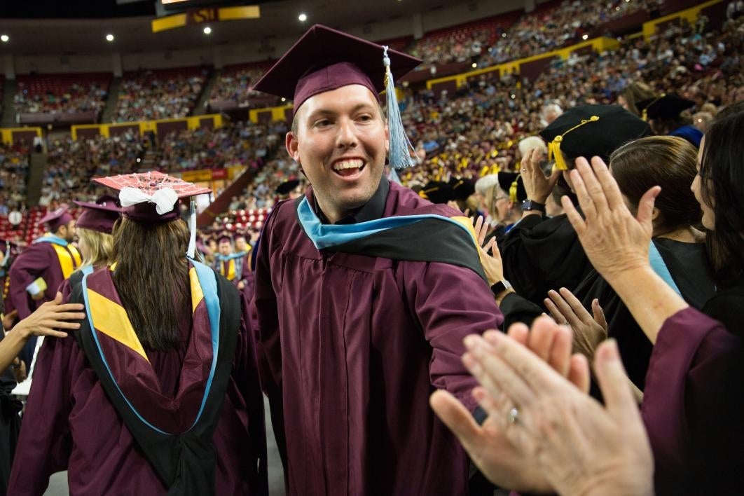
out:
<path id="1" fill-rule="evenodd" d="M 74 338 L 45 338 L 36 357 L 7 494 L 42 495 L 49 476 L 67 468 L 71 384 L 82 370 L 83 352 Z"/>

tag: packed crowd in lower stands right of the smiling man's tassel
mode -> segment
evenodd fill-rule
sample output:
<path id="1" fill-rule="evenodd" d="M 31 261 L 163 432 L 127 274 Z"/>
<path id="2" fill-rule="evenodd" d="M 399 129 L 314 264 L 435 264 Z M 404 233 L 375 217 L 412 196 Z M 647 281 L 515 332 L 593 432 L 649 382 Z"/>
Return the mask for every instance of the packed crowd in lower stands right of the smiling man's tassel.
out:
<path id="1" fill-rule="evenodd" d="M 425 182 L 437 175 L 477 177 L 494 167 L 510 170 L 521 159 L 517 142 L 545 127 L 545 106 L 618 103 L 618 95 L 633 81 L 651 83 L 658 93 L 679 92 L 696 101 L 698 110 L 708 101 L 721 105 L 740 100 L 743 29 L 741 19 L 729 22 L 722 33 L 700 34 L 689 25 L 671 28 L 652 42 L 639 38 L 599 56 L 556 59 L 531 83 L 499 79 L 493 72 L 455 94 L 412 95 L 403 119 L 421 160 L 402 178 Z"/>

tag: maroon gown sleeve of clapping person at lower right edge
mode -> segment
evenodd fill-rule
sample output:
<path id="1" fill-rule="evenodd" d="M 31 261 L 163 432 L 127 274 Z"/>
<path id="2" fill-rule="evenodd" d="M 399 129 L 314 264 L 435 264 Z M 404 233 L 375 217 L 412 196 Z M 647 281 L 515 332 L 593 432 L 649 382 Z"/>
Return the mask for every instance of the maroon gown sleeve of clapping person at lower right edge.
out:
<path id="1" fill-rule="evenodd" d="M 641 408 L 657 496 L 744 494 L 743 362 L 741 338 L 695 309 L 661 327 Z"/>

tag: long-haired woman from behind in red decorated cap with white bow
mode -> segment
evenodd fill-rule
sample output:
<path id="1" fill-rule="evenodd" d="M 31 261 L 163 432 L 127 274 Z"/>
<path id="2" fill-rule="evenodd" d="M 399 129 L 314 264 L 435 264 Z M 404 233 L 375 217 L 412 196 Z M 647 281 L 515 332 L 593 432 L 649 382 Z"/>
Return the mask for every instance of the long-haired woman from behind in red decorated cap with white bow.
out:
<path id="1" fill-rule="evenodd" d="M 96 181 L 124 207 L 115 265 L 65 288 L 86 318 L 39 352 L 10 493 L 42 494 L 66 468 L 76 495 L 264 494 L 246 304 L 187 256 L 193 235 L 179 214 L 179 198 L 208 190 L 161 173 Z"/>

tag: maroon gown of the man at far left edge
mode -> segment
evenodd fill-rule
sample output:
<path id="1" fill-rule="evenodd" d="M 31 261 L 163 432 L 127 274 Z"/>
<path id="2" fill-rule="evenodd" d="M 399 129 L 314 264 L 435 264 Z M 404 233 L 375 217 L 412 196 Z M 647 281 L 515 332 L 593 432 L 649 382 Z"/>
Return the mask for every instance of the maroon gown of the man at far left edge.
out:
<path id="1" fill-rule="evenodd" d="M 39 277 L 44 278 L 47 289 L 41 300 L 33 301 L 26 287 Z M 54 300 L 57 289 L 64 280 L 60 259 L 51 243 L 28 245 L 10 267 L 10 300 L 13 308 L 18 310 L 19 320 L 27 318 L 45 301 Z"/>

